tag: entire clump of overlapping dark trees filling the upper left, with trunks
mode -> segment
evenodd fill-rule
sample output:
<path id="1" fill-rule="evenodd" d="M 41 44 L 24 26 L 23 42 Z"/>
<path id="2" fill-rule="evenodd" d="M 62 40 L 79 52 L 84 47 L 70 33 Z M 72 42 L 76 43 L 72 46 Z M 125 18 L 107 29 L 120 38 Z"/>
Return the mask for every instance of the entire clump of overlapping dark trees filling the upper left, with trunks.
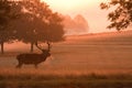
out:
<path id="1" fill-rule="evenodd" d="M 59 42 L 64 40 L 63 19 L 41 0 L 0 0 L 0 46 L 4 43 Z"/>

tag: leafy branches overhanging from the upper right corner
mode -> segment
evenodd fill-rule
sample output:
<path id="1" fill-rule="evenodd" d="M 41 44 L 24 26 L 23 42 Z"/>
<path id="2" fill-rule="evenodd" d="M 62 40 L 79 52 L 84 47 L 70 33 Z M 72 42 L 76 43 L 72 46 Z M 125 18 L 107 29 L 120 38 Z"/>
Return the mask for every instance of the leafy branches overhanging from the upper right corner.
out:
<path id="1" fill-rule="evenodd" d="M 108 3 L 101 3 L 101 9 L 114 7 L 114 11 L 108 14 L 111 24 L 108 29 L 116 28 L 118 31 L 127 29 L 132 23 L 132 0 L 110 0 Z"/>

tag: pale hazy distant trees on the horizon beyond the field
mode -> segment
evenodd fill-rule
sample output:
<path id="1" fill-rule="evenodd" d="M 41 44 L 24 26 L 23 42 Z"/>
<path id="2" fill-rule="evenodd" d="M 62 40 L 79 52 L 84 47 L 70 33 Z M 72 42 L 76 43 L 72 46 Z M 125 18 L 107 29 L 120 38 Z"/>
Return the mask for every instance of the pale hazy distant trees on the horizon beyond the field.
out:
<path id="1" fill-rule="evenodd" d="M 77 14 L 74 18 L 70 15 L 63 15 L 63 19 L 66 35 L 88 33 L 89 24 L 81 14 Z"/>

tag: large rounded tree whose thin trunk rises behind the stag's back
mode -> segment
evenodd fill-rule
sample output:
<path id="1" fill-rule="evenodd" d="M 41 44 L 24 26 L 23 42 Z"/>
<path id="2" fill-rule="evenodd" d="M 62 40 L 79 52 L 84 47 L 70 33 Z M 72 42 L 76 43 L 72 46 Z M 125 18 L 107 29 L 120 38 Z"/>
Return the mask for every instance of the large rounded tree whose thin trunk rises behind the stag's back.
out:
<path id="1" fill-rule="evenodd" d="M 20 25 L 15 35 L 19 41 L 31 43 L 31 52 L 36 42 L 58 42 L 64 38 L 62 19 L 45 2 L 24 0 L 21 6 L 23 14 L 18 20 Z"/>

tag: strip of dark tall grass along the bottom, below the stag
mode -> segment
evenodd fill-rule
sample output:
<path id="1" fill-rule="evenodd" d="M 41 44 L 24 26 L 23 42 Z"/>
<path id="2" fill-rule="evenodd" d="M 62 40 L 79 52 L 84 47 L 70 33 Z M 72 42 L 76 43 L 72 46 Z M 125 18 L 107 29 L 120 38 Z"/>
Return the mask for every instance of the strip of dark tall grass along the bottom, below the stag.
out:
<path id="1" fill-rule="evenodd" d="M 34 68 L 0 70 L 0 88 L 132 88 L 131 84 L 131 73 L 47 72 Z"/>

